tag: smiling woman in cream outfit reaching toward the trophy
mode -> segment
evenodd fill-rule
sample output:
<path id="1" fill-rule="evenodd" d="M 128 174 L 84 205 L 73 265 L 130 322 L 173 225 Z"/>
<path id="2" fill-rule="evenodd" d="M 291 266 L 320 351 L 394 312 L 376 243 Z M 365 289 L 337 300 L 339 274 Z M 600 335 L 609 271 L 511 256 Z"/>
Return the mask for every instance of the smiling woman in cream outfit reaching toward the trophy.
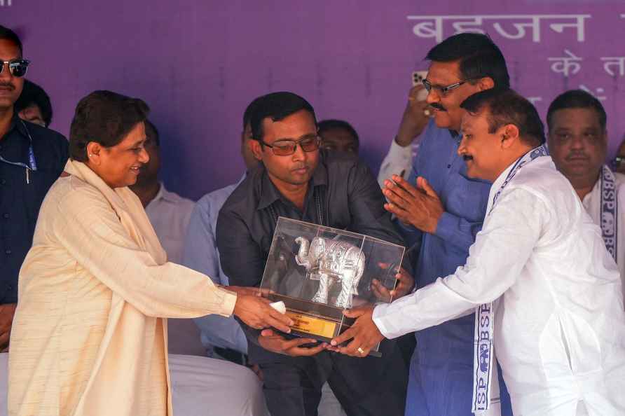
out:
<path id="1" fill-rule="evenodd" d="M 148 111 L 108 91 L 76 107 L 66 174 L 41 206 L 20 271 L 11 416 L 172 415 L 168 317 L 234 313 L 256 328 L 288 331 L 291 321 L 252 289 L 219 288 L 167 263 L 128 189 L 149 160 Z"/>

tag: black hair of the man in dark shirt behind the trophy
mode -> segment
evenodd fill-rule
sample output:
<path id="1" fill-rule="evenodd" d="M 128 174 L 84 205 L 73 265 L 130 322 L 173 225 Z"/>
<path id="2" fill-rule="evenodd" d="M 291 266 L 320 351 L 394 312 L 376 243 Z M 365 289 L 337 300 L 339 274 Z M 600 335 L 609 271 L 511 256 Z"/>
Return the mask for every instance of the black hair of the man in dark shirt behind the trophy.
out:
<path id="1" fill-rule="evenodd" d="M 317 124 L 315 110 L 312 109 L 310 103 L 293 92 L 272 92 L 255 99 L 249 117 L 249 124 L 252 126 L 252 139 L 263 139 L 263 120 L 265 118 L 280 121 L 300 110 L 308 111 L 312 115 L 312 119 L 315 120 L 315 125 Z"/>

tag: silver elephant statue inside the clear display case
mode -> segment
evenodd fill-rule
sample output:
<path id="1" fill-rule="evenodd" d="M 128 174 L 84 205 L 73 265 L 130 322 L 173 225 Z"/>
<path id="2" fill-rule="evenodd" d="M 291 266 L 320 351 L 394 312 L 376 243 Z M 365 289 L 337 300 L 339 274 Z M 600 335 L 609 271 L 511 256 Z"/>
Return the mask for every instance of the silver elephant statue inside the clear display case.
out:
<path id="1" fill-rule="evenodd" d="M 354 244 L 341 240 L 315 237 L 308 242 L 305 237 L 297 237 L 299 244 L 295 261 L 304 266 L 311 279 L 319 279 L 319 289 L 313 302 L 328 303 L 332 283 L 341 282 L 334 306 L 352 307 L 352 295 L 358 294 L 358 283 L 364 272 L 364 254 Z"/>

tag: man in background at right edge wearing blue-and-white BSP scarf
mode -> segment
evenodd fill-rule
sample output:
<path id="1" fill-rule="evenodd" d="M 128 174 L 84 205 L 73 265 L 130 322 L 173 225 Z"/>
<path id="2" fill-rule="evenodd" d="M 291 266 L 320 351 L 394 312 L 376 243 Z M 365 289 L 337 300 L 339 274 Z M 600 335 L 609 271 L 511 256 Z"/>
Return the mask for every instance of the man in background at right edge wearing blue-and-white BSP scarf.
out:
<path id="1" fill-rule="evenodd" d="M 601 228 L 605 247 L 625 279 L 625 175 L 605 164 L 606 119 L 603 105 L 588 92 L 558 95 L 547 111 L 549 153 Z"/>

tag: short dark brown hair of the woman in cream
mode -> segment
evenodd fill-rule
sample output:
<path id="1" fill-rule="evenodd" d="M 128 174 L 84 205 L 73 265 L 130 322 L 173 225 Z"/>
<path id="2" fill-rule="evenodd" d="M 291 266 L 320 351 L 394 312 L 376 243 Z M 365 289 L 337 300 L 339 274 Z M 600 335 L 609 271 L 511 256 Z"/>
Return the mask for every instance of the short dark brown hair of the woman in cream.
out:
<path id="1" fill-rule="evenodd" d="M 111 91 L 94 91 L 76 106 L 69 128 L 69 157 L 87 160 L 87 144 L 104 147 L 119 144 L 137 123 L 146 120 L 150 109 L 143 100 Z"/>

